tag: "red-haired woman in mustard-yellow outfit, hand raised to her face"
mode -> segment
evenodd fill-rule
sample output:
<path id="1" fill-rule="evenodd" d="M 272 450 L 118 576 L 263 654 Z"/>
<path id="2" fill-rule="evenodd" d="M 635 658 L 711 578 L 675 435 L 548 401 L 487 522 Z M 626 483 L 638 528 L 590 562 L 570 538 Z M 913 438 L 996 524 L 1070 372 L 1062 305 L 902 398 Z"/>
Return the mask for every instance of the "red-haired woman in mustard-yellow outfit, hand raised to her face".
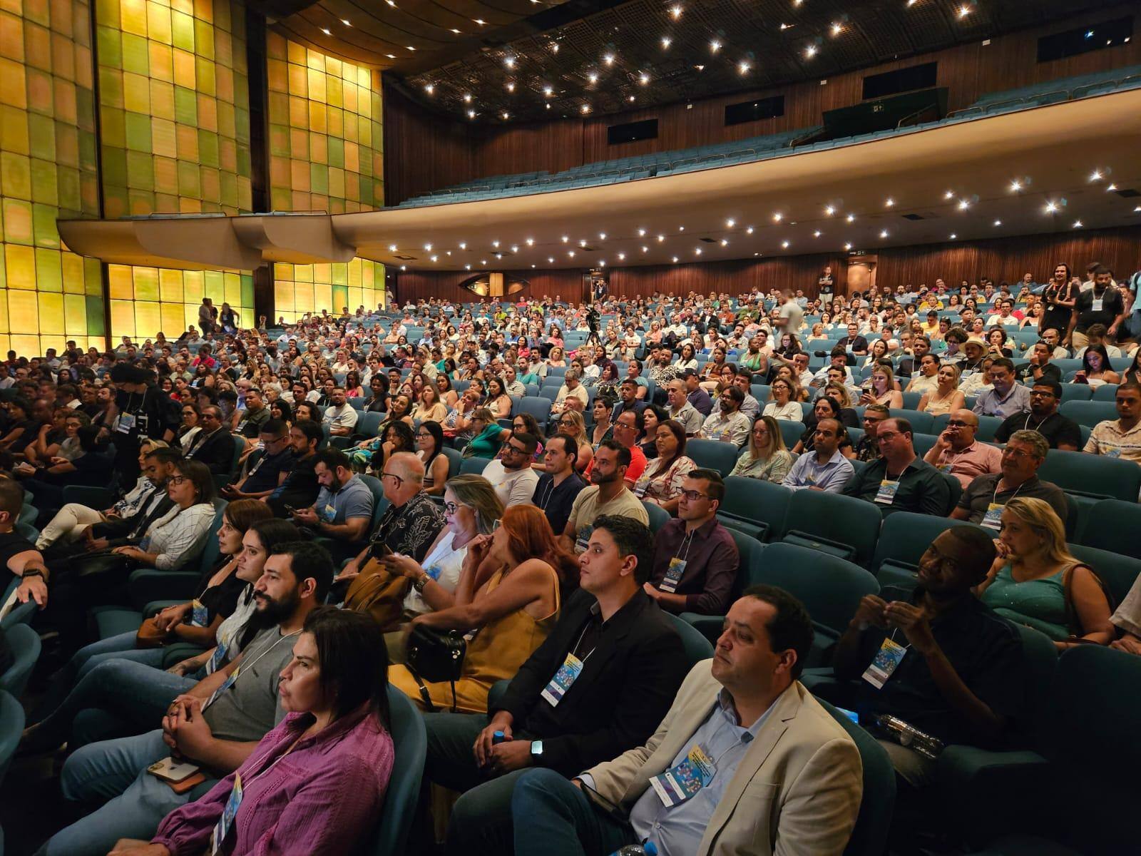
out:
<path id="1" fill-rule="evenodd" d="M 423 710 L 486 713 L 492 684 L 513 677 L 542 645 L 577 575 L 577 563 L 555 540 L 547 515 L 534 506 L 511 506 L 491 535 L 468 542 L 454 605 L 412 621 L 413 629 L 476 631 L 454 695 L 451 683 L 422 680 L 405 665 L 391 667 L 389 683 Z"/>

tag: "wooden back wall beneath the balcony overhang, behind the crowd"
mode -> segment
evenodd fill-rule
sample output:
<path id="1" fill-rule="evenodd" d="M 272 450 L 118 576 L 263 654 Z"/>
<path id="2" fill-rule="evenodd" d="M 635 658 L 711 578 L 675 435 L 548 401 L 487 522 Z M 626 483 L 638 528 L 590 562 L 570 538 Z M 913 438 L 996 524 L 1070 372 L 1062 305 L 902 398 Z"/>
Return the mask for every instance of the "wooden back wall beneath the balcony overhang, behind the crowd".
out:
<path id="1" fill-rule="evenodd" d="M 1026 237 L 979 241 L 962 244 L 928 244 L 882 250 L 876 257 L 876 285 L 895 289 L 899 285 L 933 284 L 941 276 L 948 284 L 961 280 L 977 283 L 989 276 L 995 282 L 1014 282 L 1022 274 L 1034 274 L 1042 282 L 1059 261 L 1084 272 L 1086 264 L 1100 261 L 1124 278 L 1141 265 L 1141 226 L 1102 229 L 1076 235 L 1028 235 Z M 693 265 L 657 265 L 616 267 L 609 272 L 610 294 L 648 297 L 656 291 L 687 296 L 717 293 L 739 294 L 752 289 L 802 290 L 809 297 L 817 293 L 816 280 L 825 265 L 831 265 L 837 292 L 844 292 L 847 261 L 841 256 L 784 256 L 771 259 L 738 259 Z M 509 276 L 527 280 L 521 293 L 531 299 L 545 296 L 563 300 L 581 300 L 584 296 L 582 269 L 515 270 Z M 460 272 L 407 272 L 396 274 L 396 294 L 405 300 L 443 297 L 471 301 L 472 294 L 460 283 L 471 274 Z"/>

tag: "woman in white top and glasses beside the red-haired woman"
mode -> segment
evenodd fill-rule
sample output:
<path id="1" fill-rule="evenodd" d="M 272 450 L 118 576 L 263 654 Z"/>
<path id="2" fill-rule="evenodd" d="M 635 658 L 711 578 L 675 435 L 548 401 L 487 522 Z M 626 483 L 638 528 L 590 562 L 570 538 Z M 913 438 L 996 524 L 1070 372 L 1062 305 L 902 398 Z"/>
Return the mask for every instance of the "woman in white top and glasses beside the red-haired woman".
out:
<path id="1" fill-rule="evenodd" d="M 489 535 L 503 516 L 503 503 L 491 483 L 472 474 L 450 478 L 444 487 L 444 519 L 424 560 L 391 554 L 382 562 L 390 574 L 403 574 L 412 584 L 404 597 L 400 622 L 385 628 L 385 641 L 394 662 L 404 662 L 404 641 L 408 622 L 416 615 L 453 606 L 468 543 L 477 535 Z"/>

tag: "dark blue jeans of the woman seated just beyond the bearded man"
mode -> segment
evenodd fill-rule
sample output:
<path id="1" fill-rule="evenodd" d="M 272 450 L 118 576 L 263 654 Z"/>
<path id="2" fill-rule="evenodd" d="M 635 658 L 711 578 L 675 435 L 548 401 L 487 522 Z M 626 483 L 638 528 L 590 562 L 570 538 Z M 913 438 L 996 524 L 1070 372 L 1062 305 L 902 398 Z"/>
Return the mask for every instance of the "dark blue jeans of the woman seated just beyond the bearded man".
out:
<path id="1" fill-rule="evenodd" d="M 162 654 L 161 651 L 137 653 Z M 108 653 L 100 656 L 115 655 Z M 118 720 L 120 725 L 114 730 L 128 728 L 140 732 L 153 728 L 162 720 L 170 703 L 195 684 L 197 680 L 193 677 L 180 678 L 163 669 L 130 660 L 108 659 L 95 663 L 51 716 L 40 722 L 35 744 L 58 745 L 68 740 L 68 736 L 74 738 L 76 735 L 73 734 L 72 725 L 80 711 L 88 708 L 99 708 Z M 90 728 L 84 730 L 90 738 Z M 99 736 L 99 733 L 96 735 Z M 73 749 L 74 743 L 72 740 Z"/>

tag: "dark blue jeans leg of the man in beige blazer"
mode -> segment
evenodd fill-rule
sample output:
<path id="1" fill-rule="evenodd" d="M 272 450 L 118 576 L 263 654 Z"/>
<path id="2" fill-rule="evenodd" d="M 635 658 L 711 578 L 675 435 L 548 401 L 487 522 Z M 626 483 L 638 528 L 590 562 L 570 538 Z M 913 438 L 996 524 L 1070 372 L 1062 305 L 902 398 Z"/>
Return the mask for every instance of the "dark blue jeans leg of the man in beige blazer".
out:
<path id="1" fill-rule="evenodd" d="M 528 769 L 511 794 L 516 856 L 606 856 L 637 843 L 629 823 L 594 808 L 551 769 Z"/>

